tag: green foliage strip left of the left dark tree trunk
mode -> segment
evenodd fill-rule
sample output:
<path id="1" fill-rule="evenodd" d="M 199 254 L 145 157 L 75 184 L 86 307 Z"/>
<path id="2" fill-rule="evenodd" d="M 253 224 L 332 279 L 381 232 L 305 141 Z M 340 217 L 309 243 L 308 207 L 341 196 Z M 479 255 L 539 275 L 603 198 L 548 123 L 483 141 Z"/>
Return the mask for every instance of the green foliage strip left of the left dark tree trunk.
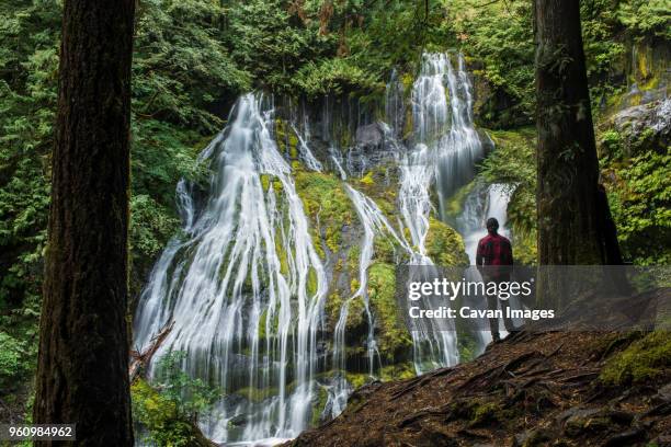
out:
<path id="1" fill-rule="evenodd" d="M 59 22 L 56 1 L 0 5 L 0 308 L 39 295 Z"/>

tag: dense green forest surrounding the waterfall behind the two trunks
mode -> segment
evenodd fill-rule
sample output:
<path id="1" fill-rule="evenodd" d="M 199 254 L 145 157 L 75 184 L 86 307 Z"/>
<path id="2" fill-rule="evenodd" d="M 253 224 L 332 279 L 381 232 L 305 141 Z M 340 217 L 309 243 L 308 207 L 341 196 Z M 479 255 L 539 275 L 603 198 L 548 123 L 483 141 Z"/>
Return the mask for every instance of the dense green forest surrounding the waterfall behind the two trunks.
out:
<path id="1" fill-rule="evenodd" d="M 515 184 L 510 224 L 535 259 L 532 2 L 508 0 L 143 0 L 133 61 L 130 299 L 179 229 L 174 186 L 205 181 L 196 157 L 238 94 L 380 102 L 395 68 L 411 83 L 423 50 L 460 49 L 476 119 L 498 144 L 480 175 Z M 57 99 L 56 0 L 0 4 L 0 413 L 30 406 Z M 628 262 L 671 261 L 664 0 L 582 2 L 602 181 Z M 669 107 L 668 100 L 660 107 Z M 628 115 L 622 115 L 628 110 Z M 668 116 L 668 113 L 667 113 Z M 521 240 L 522 240 L 521 239 Z M 82 341 L 83 342 L 83 341 Z M 30 413 L 30 411 L 27 411 Z"/>

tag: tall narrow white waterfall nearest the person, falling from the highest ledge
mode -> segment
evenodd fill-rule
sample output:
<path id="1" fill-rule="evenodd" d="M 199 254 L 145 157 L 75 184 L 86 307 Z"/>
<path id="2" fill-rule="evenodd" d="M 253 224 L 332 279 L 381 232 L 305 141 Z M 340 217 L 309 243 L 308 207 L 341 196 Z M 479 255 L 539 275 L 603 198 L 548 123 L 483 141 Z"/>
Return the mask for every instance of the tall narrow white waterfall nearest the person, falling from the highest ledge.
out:
<path id="1" fill-rule="evenodd" d="M 435 185 L 439 215 L 444 217 L 444 200 L 474 177 L 475 163 L 484 156 L 473 126 L 471 87 L 463 56 L 457 55 L 455 72 L 448 55 L 425 54 L 411 101 L 414 146 L 401 164 L 400 210 L 417 251 L 412 264 L 431 266 L 425 248 L 431 188 Z M 420 321 L 412 339 L 418 374 L 458 362 L 456 332 L 450 322 Z"/>

